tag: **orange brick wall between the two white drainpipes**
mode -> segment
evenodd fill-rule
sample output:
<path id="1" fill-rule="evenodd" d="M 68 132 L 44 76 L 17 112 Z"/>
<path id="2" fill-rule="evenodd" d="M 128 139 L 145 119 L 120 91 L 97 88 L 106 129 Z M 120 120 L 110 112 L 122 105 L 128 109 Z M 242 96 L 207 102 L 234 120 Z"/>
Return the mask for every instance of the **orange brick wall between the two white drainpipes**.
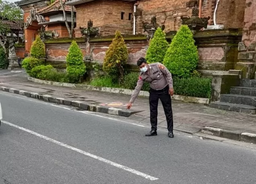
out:
<path id="1" fill-rule="evenodd" d="M 142 21 L 150 22 L 156 16 L 158 24 L 166 26 L 166 32 L 177 30 L 181 25 L 181 16 L 191 16 L 193 6 L 189 0 L 140 0 L 137 6 L 136 32 L 142 33 Z M 212 17 L 212 0 L 203 0 L 202 16 Z"/>

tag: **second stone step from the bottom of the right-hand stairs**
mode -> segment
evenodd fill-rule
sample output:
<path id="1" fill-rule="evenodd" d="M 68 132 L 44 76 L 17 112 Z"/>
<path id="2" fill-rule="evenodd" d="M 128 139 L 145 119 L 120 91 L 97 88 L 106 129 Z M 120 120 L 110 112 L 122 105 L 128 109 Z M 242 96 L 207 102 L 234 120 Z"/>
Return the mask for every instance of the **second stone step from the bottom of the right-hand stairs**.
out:
<path id="1" fill-rule="evenodd" d="M 244 104 L 248 106 L 256 106 L 256 96 L 221 94 L 219 101 L 231 104 Z"/>

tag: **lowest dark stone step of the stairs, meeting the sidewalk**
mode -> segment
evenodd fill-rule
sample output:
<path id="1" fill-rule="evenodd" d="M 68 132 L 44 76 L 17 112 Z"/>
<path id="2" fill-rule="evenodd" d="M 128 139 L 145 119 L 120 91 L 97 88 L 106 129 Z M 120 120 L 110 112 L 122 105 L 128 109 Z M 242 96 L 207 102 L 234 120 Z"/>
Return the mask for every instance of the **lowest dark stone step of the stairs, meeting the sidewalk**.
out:
<path id="1" fill-rule="evenodd" d="M 243 112 L 248 114 L 256 114 L 256 107 L 248 106 L 243 104 L 231 104 L 226 102 L 212 102 L 209 104 L 212 108 L 222 109 L 222 110 L 229 110 L 234 112 Z"/>

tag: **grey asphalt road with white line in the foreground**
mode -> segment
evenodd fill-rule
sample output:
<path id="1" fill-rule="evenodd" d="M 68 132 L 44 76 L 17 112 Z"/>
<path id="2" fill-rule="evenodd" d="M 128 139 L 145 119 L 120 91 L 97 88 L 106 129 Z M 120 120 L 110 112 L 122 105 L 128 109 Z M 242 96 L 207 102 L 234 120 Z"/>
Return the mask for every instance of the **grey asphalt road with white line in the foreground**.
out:
<path id="1" fill-rule="evenodd" d="M 0 92 L 0 184 L 252 184 L 256 151 Z M 139 125 L 139 126 L 138 126 Z"/>

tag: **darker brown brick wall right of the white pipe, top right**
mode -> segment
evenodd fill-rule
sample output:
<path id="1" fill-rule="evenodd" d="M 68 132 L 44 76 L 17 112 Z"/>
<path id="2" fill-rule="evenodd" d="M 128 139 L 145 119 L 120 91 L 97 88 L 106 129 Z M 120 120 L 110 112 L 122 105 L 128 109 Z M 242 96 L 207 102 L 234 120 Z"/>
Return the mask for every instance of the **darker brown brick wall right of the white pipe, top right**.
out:
<path id="1" fill-rule="evenodd" d="M 216 23 L 225 28 L 242 28 L 244 22 L 244 10 L 246 0 L 220 0 Z"/>

